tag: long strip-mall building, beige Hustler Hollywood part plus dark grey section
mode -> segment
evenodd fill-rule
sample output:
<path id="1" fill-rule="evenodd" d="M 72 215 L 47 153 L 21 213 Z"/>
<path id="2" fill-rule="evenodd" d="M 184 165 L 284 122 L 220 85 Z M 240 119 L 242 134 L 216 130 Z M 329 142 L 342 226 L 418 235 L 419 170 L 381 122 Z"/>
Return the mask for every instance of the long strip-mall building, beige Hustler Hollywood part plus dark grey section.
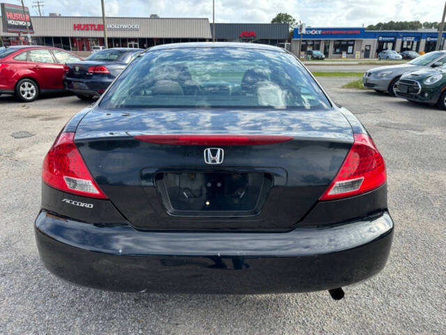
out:
<path id="1" fill-rule="evenodd" d="M 154 16 L 154 17 L 152 17 Z M 203 42 L 212 40 L 213 27 L 207 18 L 62 17 L 59 15 L 31 17 L 33 45 L 61 47 L 77 54 L 89 54 L 93 45 L 104 45 L 104 29 L 108 47 L 151 47 L 166 43 Z M 3 31 L 3 45 L 17 45 L 17 33 Z M 289 38 L 289 24 L 215 24 L 217 41 L 238 41 L 283 45 Z"/>

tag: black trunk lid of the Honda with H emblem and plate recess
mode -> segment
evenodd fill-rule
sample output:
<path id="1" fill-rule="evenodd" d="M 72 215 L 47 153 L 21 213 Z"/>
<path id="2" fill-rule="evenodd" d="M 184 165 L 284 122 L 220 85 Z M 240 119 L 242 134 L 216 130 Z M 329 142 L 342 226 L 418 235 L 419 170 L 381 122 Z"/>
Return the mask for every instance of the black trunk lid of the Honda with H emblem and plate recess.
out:
<path id="1" fill-rule="evenodd" d="M 184 134 L 281 140 L 144 140 Z M 276 231 L 293 228 L 316 204 L 353 135 L 337 110 L 94 108 L 75 142 L 100 188 L 135 228 Z M 206 163 L 206 149 L 211 156 L 222 149 L 222 162 Z"/>

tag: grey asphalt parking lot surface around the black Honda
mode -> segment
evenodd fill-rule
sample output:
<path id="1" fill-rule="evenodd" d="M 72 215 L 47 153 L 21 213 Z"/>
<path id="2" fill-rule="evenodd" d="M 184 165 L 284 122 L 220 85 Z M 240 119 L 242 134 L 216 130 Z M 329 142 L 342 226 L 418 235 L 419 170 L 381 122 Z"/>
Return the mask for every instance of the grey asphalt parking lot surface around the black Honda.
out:
<path id="1" fill-rule="evenodd" d="M 341 301 L 328 292 L 123 294 L 61 281 L 40 263 L 33 236 L 40 165 L 87 103 L 53 96 L 24 104 L 1 96 L 0 334 L 445 334 L 446 112 L 341 89 L 351 78 L 318 80 L 357 114 L 387 163 L 396 228 L 378 276 L 346 287 Z"/>

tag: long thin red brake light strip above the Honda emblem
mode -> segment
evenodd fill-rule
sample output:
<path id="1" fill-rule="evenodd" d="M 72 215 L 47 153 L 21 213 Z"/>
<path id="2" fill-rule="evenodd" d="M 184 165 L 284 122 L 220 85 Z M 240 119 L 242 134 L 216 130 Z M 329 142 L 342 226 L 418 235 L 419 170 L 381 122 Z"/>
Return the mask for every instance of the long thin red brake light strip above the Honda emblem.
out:
<path id="1" fill-rule="evenodd" d="M 261 145 L 293 140 L 277 135 L 137 135 L 143 142 L 171 145 Z"/>

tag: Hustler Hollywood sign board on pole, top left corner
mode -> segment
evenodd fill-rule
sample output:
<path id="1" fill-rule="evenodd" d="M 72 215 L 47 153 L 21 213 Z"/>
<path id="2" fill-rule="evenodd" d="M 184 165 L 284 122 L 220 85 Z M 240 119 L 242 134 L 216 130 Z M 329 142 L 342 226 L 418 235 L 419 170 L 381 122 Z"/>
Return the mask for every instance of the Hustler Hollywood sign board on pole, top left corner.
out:
<path id="1" fill-rule="evenodd" d="M 8 33 L 27 33 L 28 29 L 31 34 L 34 32 L 28 7 L 23 10 L 22 6 L 1 3 L 1 20 L 3 31 L 8 31 Z"/>

